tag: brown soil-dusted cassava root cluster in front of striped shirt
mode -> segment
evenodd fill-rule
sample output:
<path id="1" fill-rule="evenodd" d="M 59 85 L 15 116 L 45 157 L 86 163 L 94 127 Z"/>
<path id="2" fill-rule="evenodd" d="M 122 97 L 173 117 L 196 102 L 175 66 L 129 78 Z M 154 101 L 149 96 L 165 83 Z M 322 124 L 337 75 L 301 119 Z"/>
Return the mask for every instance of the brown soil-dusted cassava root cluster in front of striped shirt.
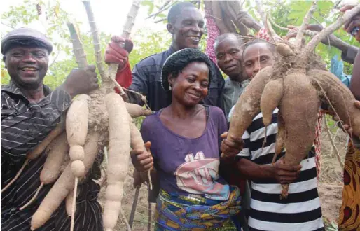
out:
<path id="1" fill-rule="evenodd" d="M 311 17 L 315 6 L 312 6 L 306 18 Z M 305 48 L 300 42 L 295 46 L 277 44 L 275 64 L 261 70 L 235 104 L 228 139 L 242 137 L 257 113 L 262 112 L 263 124 L 269 125 L 272 111 L 278 107 L 278 133 L 272 162 L 282 148 L 286 148 L 284 162 L 299 165 L 314 142 L 321 102 L 326 103 L 343 123 L 350 125 L 354 135 L 360 136 L 360 110 L 354 106 L 354 96 L 336 76 L 322 69 L 321 59 L 313 53 L 315 45 L 322 38 L 356 13 L 360 13 L 360 5 L 314 36 Z M 302 37 L 303 33 L 300 33 L 296 38 L 301 41 Z M 309 49 L 312 49 L 311 52 Z M 282 185 L 282 188 L 281 198 L 287 197 L 289 184 Z"/>

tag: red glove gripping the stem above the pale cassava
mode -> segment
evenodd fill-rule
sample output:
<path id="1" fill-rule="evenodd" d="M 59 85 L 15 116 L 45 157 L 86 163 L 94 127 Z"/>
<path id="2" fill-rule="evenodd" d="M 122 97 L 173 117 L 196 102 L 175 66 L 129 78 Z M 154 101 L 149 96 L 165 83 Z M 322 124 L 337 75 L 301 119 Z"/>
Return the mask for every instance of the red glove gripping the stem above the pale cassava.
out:
<path id="1" fill-rule="evenodd" d="M 120 45 L 123 43 L 123 47 Z M 113 36 L 111 42 L 105 50 L 105 62 L 106 64 L 118 64 L 118 72 L 116 73 L 116 81 L 122 87 L 129 87 L 132 83 L 131 69 L 128 62 L 129 53 L 134 47 L 130 39 L 125 39 L 120 36 Z M 118 90 L 116 90 L 118 92 Z"/>

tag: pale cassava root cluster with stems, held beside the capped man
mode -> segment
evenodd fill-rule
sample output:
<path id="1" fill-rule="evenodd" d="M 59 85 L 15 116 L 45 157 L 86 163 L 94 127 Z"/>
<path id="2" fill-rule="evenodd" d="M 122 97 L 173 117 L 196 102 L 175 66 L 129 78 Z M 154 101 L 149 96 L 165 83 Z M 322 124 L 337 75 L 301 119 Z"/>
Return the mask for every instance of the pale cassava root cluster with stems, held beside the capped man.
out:
<path id="1" fill-rule="evenodd" d="M 111 78 L 114 76 L 113 70 L 106 71 L 104 69 L 99 47 L 99 35 L 90 2 L 83 1 L 83 3 L 92 31 L 97 69 L 99 69 L 102 77 L 102 85 L 98 90 L 90 92 L 90 97 L 88 95 L 76 97 L 67 112 L 67 143 L 70 146 L 71 162 L 36 210 L 32 217 L 32 230 L 46 223 L 65 199 L 67 200 L 67 214 L 71 216 L 71 230 L 74 228 L 78 178 L 84 177 L 89 172 L 96 156 L 102 152 L 108 142 L 109 165 L 106 170 L 107 188 L 103 220 L 105 230 L 113 230 L 121 209 L 123 183 L 125 176 L 127 176 L 130 160 L 131 117 L 148 116 L 152 113 L 141 106 L 125 103 L 119 94 L 113 92 L 114 83 Z M 125 37 L 130 33 L 137 8 L 139 8 L 138 1 L 133 3 L 128 15 L 128 20 L 131 19 L 132 21 L 125 23 L 126 28 L 124 28 L 123 33 Z M 73 24 L 68 23 L 68 27 L 76 62 L 79 68 L 84 68 L 88 64 L 78 32 Z M 132 127 L 133 129 L 137 130 L 135 126 Z M 137 132 L 139 131 L 137 130 Z M 139 142 L 137 145 L 144 145 L 144 141 L 141 139 L 140 142 L 139 139 L 141 139 L 141 135 L 137 139 Z"/>

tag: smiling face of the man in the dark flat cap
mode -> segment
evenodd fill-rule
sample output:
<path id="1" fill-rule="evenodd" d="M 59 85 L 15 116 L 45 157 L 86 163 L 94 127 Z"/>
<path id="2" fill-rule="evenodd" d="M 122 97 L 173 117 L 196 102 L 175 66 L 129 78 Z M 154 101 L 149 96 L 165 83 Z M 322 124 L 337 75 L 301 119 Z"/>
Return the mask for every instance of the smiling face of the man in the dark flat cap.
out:
<path id="1" fill-rule="evenodd" d="M 48 71 L 48 50 L 14 47 L 6 52 L 5 64 L 11 80 L 21 87 L 36 89 Z"/>

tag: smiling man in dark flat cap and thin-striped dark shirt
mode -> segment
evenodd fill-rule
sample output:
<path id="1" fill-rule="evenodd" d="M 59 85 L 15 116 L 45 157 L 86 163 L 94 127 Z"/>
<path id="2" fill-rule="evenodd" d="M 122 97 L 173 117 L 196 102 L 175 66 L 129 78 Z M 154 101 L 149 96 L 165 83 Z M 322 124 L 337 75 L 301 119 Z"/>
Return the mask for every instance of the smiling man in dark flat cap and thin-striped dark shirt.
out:
<path id="1" fill-rule="evenodd" d="M 97 84 L 95 66 L 71 71 L 64 83 L 55 90 L 43 85 L 48 71 L 48 56 L 53 50 L 48 38 L 39 31 L 20 28 L 1 40 L 1 53 L 11 81 L 1 86 L 1 190 L 15 177 L 32 151 L 69 108 L 76 94 L 87 94 Z M 36 200 L 24 210 L 40 186 L 40 172 L 46 160 L 41 155 L 29 160 L 20 177 L 1 192 L 1 230 L 30 230 L 32 215 L 53 184 L 43 186 Z M 102 230 L 101 207 L 97 202 L 100 186 L 92 181 L 99 178 L 99 162 L 79 186 L 75 230 Z M 70 217 L 64 204 L 38 230 L 69 230 Z"/>

